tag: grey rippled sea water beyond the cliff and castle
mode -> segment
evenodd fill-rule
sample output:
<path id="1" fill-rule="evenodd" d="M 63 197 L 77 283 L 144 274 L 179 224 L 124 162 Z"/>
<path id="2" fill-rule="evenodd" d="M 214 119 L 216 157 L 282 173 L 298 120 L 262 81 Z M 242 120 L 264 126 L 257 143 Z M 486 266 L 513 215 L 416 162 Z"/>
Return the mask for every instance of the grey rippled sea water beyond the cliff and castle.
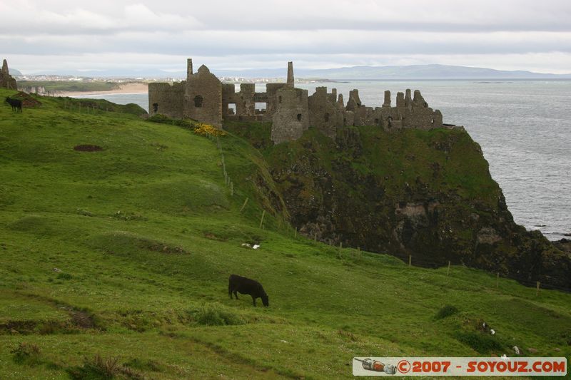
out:
<path id="1" fill-rule="evenodd" d="M 515 222 L 558 240 L 571 233 L 571 81 L 348 81 L 299 83 L 311 95 L 337 88 L 345 102 L 358 88 L 365 106 L 381 106 L 383 92 L 418 89 L 444 123 L 464 125 L 481 145 L 492 178 L 500 184 Z M 239 88 L 237 87 L 237 91 Z M 263 83 L 256 91 L 265 91 Z M 147 94 L 88 96 L 136 103 Z"/>

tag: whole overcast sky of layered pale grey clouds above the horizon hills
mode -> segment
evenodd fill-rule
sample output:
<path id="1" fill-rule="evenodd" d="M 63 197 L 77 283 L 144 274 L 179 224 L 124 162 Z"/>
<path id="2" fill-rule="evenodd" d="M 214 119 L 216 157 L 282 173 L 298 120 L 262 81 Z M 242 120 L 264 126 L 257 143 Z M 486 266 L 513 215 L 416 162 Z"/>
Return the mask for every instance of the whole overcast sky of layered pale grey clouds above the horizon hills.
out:
<path id="1" fill-rule="evenodd" d="M 0 58 L 71 70 L 441 63 L 571 73 L 570 0 L 0 0 Z"/>

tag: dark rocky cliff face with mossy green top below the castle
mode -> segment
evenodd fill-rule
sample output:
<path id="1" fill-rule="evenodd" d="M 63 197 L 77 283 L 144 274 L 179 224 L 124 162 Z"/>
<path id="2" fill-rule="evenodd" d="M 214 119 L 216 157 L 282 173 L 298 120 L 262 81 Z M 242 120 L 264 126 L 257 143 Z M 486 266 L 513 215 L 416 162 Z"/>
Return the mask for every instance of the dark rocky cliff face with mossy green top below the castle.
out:
<path id="1" fill-rule="evenodd" d="M 487 161 L 462 128 L 310 128 L 264 150 L 301 233 L 425 267 L 467 265 L 525 284 L 571 288 L 571 258 L 516 225 Z"/>

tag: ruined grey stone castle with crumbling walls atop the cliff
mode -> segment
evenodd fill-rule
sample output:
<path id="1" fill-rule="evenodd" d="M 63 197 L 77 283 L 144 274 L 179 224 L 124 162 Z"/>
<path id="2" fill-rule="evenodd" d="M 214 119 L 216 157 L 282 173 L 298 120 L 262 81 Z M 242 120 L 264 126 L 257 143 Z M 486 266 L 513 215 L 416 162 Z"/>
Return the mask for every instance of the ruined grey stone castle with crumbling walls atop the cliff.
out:
<path id="1" fill-rule="evenodd" d="M 148 110 L 150 115 L 191 118 L 217 128 L 226 120 L 269 121 L 276 144 L 300 138 L 310 125 L 330 138 L 347 125 L 378 125 L 385 130 L 443 126 L 442 113 L 428 107 L 418 90 L 413 96 L 410 90 L 397 93 L 395 107 L 390 91 L 385 91 L 383 106 L 373 108 L 361 103 L 358 90 L 350 91 L 345 104 L 335 88 L 328 93 L 327 87 L 318 87 L 308 96 L 307 90 L 293 84 L 293 63 L 288 62 L 286 83 L 267 83 L 263 93 L 255 91 L 254 83 L 242 83 L 237 93 L 233 83 L 222 83 L 204 65 L 194 73 L 189 58 L 186 81 L 149 84 Z M 266 110 L 256 110 L 256 103 L 266 103 Z"/>

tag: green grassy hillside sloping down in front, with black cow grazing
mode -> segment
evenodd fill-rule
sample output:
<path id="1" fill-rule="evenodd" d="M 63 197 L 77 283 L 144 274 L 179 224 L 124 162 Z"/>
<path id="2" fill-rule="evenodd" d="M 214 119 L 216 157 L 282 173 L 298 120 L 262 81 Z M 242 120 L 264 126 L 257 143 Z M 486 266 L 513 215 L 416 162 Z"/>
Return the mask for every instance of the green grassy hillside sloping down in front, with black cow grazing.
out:
<path id="1" fill-rule="evenodd" d="M 570 294 L 295 236 L 241 138 L 220 138 L 222 160 L 186 128 L 40 100 L 0 106 L 0 379 L 343 379 L 353 356 L 571 355 Z M 231 273 L 270 307 L 229 299 Z"/>

